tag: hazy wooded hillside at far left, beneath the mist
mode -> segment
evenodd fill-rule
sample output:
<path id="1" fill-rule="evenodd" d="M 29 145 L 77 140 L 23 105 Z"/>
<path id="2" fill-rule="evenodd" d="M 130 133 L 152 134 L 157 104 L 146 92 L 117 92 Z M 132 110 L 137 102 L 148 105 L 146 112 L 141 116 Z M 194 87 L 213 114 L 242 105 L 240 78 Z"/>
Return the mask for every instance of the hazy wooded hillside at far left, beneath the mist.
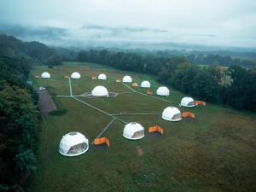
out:
<path id="1" fill-rule="evenodd" d="M 12 36 L 0 34 L 0 55 L 28 57 L 32 61 L 49 62 L 57 56 L 55 49 L 38 42 L 22 42 Z"/>

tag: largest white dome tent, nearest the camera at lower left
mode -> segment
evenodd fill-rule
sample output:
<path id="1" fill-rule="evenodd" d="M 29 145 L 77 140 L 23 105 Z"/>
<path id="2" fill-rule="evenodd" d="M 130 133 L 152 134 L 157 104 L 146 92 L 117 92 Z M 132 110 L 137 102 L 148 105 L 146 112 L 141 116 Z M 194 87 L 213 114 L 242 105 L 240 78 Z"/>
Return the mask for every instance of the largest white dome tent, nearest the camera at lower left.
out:
<path id="1" fill-rule="evenodd" d="M 77 156 L 84 154 L 89 148 L 89 141 L 79 132 L 69 132 L 61 138 L 60 154 L 64 156 Z"/>

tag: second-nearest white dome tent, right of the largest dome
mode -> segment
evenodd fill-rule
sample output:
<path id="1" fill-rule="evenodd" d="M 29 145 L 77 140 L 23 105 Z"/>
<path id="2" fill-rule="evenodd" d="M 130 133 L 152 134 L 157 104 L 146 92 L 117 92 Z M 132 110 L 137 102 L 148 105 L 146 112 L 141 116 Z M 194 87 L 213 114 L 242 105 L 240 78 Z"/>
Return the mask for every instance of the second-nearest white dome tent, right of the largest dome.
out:
<path id="1" fill-rule="evenodd" d="M 131 140 L 141 139 L 144 137 L 144 128 L 136 122 L 131 122 L 125 125 L 123 136 Z"/>

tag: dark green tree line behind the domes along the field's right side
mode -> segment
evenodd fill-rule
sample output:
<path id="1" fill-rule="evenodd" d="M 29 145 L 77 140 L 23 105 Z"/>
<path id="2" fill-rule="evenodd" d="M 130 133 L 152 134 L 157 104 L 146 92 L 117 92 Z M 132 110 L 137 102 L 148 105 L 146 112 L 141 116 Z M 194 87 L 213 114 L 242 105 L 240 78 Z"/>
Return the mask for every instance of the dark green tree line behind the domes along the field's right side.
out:
<path id="1" fill-rule="evenodd" d="M 140 55 L 136 52 L 90 49 L 78 61 L 95 62 L 123 70 L 151 73 L 162 84 L 207 102 L 256 111 L 256 69 L 191 63 L 184 55 Z M 200 63 L 201 64 L 201 63 Z"/>

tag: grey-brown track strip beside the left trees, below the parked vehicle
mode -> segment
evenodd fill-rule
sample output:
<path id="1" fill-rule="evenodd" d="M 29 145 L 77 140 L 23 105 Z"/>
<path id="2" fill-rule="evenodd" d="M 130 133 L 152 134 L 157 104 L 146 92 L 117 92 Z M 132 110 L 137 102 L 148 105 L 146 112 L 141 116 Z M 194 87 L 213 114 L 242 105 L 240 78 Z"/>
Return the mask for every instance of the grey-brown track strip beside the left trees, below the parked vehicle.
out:
<path id="1" fill-rule="evenodd" d="M 49 113 L 50 111 L 56 110 L 55 102 L 49 95 L 48 90 L 38 90 L 39 96 L 39 108 L 42 114 Z"/>

